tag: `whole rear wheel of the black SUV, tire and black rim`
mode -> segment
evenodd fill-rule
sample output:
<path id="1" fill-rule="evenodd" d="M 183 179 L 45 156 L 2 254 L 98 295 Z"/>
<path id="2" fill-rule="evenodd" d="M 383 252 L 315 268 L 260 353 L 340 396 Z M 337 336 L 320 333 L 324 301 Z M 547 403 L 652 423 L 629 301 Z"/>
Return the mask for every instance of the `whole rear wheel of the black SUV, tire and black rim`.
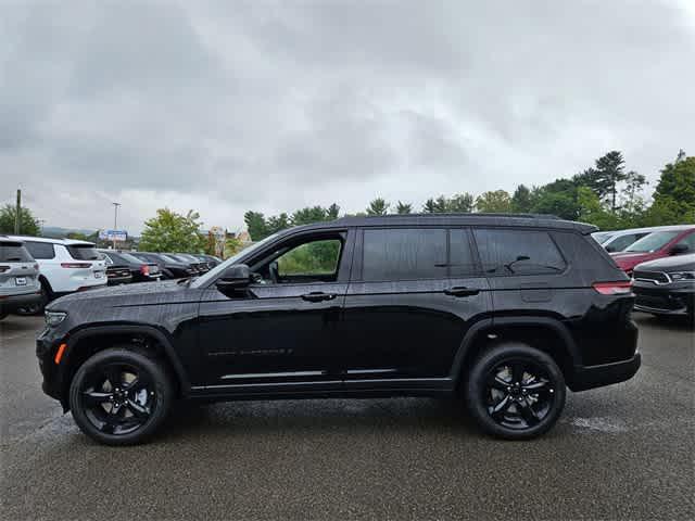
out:
<path id="1" fill-rule="evenodd" d="M 471 416 L 484 432 L 504 440 L 530 440 L 547 432 L 563 412 L 565 397 L 565 378 L 555 360 L 521 343 L 498 344 L 482 353 L 466 382 Z"/>

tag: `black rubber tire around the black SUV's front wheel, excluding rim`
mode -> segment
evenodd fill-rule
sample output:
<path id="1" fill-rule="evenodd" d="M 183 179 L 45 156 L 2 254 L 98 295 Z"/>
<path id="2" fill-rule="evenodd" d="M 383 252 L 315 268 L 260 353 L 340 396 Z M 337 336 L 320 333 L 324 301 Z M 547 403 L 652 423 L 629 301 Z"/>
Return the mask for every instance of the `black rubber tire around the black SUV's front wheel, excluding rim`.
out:
<path id="1" fill-rule="evenodd" d="M 147 423 L 127 434 L 108 434 L 97 429 L 85 414 L 79 396 L 85 378 L 100 365 L 113 363 L 136 366 L 148 373 L 154 385 L 153 414 Z M 122 347 L 109 348 L 88 358 L 75 373 L 70 386 L 70 406 L 75 423 L 89 437 L 105 445 L 134 445 L 149 439 L 166 418 L 172 401 L 172 383 L 162 366 L 149 356 Z"/>

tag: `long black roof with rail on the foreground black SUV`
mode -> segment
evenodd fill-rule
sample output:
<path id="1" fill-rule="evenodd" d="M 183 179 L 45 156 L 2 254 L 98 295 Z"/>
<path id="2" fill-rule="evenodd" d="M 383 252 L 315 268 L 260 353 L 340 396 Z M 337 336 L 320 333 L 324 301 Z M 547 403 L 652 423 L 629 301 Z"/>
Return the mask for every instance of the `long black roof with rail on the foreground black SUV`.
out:
<path id="1" fill-rule="evenodd" d="M 340 228 L 345 226 L 381 227 L 381 226 L 505 226 L 505 227 L 532 227 L 557 228 L 564 230 L 577 230 L 581 233 L 591 233 L 598 230 L 593 225 L 564 220 L 547 214 L 393 214 L 362 217 L 341 217 L 327 223 L 291 228 Z M 289 231 L 289 230 L 288 230 Z"/>

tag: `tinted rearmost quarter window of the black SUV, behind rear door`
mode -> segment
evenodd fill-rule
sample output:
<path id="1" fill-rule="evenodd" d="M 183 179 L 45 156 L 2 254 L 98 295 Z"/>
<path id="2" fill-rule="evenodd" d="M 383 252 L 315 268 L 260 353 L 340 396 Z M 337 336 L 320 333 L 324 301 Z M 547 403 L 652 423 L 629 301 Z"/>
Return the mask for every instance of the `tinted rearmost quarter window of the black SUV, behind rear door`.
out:
<path id="1" fill-rule="evenodd" d="M 475 230 L 483 271 L 488 275 L 543 275 L 565 269 L 565 259 L 545 231 Z"/>

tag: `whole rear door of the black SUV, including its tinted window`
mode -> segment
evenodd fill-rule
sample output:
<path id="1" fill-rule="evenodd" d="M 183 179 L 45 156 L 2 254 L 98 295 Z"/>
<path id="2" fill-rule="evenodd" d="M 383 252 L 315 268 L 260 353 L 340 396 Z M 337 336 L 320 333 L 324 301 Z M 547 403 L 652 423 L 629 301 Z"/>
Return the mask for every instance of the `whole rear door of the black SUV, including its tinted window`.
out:
<path id="1" fill-rule="evenodd" d="M 466 228 L 366 228 L 340 322 L 346 389 L 440 386 L 488 281 Z"/>

